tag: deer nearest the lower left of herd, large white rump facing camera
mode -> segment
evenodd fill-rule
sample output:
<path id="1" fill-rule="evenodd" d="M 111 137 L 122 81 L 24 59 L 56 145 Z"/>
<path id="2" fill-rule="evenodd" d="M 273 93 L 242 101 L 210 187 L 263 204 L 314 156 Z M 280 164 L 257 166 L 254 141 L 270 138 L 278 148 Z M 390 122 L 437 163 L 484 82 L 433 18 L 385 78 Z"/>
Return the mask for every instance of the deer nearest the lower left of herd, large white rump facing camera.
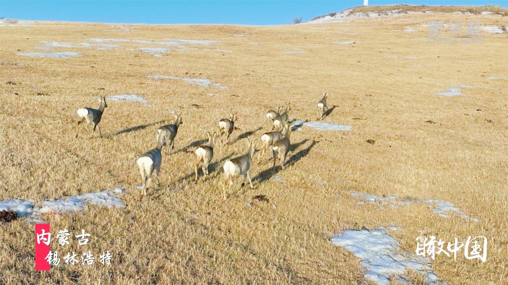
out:
<path id="1" fill-rule="evenodd" d="M 164 135 L 157 136 L 155 148 L 142 154 L 137 160 L 136 164 L 139 167 L 139 174 L 141 175 L 141 181 L 143 183 L 143 189 L 141 195 L 146 196 L 146 188 L 150 187 L 152 181 L 152 173 L 155 172 L 155 183 L 159 186 L 158 172 L 161 170 L 162 162 L 162 147 L 164 146 Z"/>

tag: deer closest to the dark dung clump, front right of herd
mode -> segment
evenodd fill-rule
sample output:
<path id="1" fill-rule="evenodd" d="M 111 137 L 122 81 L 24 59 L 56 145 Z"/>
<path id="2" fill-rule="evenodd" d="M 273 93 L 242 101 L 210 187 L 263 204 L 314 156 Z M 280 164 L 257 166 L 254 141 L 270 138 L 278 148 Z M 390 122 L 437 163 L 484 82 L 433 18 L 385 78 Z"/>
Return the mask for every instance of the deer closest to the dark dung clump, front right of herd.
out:
<path id="1" fill-rule="evenodd" d="M 250 188 L 253 188 L 252 181 L 250 180 L 250 168 L 252 167 L 252 157 L 254 156 L 254 153 L 256 152 L 256 149 L 254 145 L 256 144 L 257 139 L 254 141 L 250 141 L 247 138 L 247 151 L 244 155 L 233 158 L 231 160 L 227 160 L 224 163 L 224 182 L 223 182 L 223 198 L 226 200 L 226 183 L 229 182 L 229 192 L 231 193 L 231 185 L 233 185 L 233 179 L 236 176 L 242 175 L 243 176 L 243 182 L 240 186 L 243 187 L 245 185 L 245 177 L 249 180 Z"/>

